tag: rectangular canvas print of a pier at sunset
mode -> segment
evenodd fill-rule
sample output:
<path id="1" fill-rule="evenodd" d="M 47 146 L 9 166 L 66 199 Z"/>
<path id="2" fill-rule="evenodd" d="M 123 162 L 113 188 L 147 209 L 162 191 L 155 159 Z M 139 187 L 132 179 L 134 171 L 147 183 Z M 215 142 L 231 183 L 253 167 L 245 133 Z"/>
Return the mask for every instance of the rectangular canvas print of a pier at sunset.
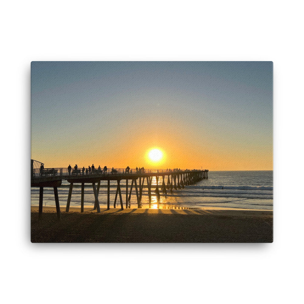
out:
<path id="1" fill-rule="evenodd" d="M 273 63 L 33 61 L 31 242 L 271 243 Z"/>

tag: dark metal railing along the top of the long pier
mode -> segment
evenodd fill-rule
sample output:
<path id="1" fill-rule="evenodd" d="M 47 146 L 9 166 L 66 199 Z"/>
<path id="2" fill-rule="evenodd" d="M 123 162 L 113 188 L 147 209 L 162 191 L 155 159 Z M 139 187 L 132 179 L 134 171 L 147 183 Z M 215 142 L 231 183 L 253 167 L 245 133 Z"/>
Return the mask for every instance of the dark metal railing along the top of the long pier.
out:
<path id="1" fill-rule="evenodd" d="M 95 168 L 94 170 L 89 171 L 89 168 L 72 168 L 71 171 L 68 168 L 33 168 L 31 171 L 31 178 L 41 178 L 41 177 L 76 177 L 76 176 L 105 176 L 105 175 L 125 175 L 125 174 L 143 174 L 143 173 L 174 173 L 181 171 L 204 171 L 203 170 L 189 170 L 189 169 L 136 169 L 130 168 L 126 170 L 126 168 L 111 168 L 104 170 L 103 168 Z"/>

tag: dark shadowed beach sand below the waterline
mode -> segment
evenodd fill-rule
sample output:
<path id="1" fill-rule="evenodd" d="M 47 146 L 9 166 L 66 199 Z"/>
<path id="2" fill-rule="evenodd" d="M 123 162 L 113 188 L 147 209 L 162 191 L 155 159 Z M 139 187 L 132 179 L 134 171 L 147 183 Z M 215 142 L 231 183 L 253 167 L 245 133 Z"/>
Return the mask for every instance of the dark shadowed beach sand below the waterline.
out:
<path id="1" fill-rule="evenodd" d="M 273 211 L 31 207 L 33 243 L 271 243 Z"/>

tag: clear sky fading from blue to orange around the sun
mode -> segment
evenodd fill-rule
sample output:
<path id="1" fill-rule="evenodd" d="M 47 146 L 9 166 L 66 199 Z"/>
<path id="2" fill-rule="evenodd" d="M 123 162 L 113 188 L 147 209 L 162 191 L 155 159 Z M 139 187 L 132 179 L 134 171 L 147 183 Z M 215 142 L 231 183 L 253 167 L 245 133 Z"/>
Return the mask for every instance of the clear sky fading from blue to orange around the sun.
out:
<path id="1" fill-rule="evenodd" d="M 271 61 L 33 61 L 31 158 L 45 168 L 273 170 L 272 89 Z"/>

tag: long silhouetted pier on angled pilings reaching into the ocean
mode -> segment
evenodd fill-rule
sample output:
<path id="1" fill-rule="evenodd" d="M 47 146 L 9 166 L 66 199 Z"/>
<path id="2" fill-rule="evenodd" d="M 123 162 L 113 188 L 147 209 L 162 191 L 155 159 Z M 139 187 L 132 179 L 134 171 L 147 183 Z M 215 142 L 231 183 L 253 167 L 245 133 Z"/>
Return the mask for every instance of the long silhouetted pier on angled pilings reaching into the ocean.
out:
<path id="1" fill-rule="evenodd" d="M 128 202 L 131 199 L 131 194 L 136 195 L 138 207 L 140 207 L 140 201 L 142 198 L 143 186 L 148 188 L 149 201 L 151 202 L 152 191 L 154 195 L 160 196 L 160 192 L 165 195 L 167 192 L 173 193 L 174 190 L 184 188 L 187 185 L 193 185 L 202 179 L 208 179 L 208 171 L 203 170 L 188 170 L 188 169 L 130 169 L 130 168 L 112 168 L 106 169 L 98 168 L 91 172 L 88 172 L 87 168 L 44 168 L 44 164 L 31 159 L 31 187 L 39 187 L 39 216 L 42 217 L 43 208 L 43 188 L 53 187 L 54 197 L 57 211 L 57 219 L 60 220 L 60 206 L 58 198 L 58 190 L 63 180 L 70 183 L 66 212 L 69 212 L 70 202 L 73 192 L 74 184 L 81 184 L 81 212 L 84 211 L 84 193 L 85 184 L 92 184 L 95 202 L 94 209 L 100 213 L 100 206 L 98 201 L 98 195 L 100 190 L 100 182 L 107 181 L 107 209 L 110 209 L 110 182 L 114 181 L 116 188 L 116 195 L 114 200 L 114 208 L 116 208 L 116 202 L 119 198 L 121 209 L 123 209 L 123 196 L 122 187 L 120 185 L 121 180 L 126 181 L 125 202 L 126 208 L 128 208 Z M 156 185 L 152 185 L 152 178 L 156 179 Z M 162 177 L 161 185 L 158 184 L 159 178 Z M 130 188 L 129 188 L 130 182 Z M 155 189 L 154 189 L 155 187 Z M 152 189 L 153 188 L 153 189 Z M 134 193 L 135 192 L 135 193 Z"/>

